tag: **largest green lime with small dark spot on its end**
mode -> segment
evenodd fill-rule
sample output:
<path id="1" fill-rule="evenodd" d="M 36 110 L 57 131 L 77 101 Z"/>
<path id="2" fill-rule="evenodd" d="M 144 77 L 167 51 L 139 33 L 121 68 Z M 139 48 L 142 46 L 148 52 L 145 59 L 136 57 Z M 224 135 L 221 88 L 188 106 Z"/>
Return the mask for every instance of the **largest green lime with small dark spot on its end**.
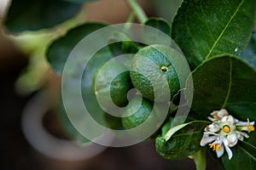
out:
<path id="1" fill-rule="evenodd" d="M 182 65 L 172 64 L 179 58 L 183 59 L 183 55 L 165 45 L 141 48 L 132 59 L 130 75 L 133 86 L 151 101 L 171 100 L 180 89 L 176 67 L 180 69 Z M 184 79 L 186 75 L 182 77 Z"/>

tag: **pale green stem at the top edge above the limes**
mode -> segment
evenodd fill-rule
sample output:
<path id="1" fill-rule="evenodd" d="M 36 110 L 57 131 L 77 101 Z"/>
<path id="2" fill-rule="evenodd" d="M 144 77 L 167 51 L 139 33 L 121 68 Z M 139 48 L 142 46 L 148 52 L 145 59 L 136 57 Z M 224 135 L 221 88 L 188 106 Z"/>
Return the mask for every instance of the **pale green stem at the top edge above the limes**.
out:
<path id="1" fill-rule="evenodd" d="M 127 0 L 127 3 L 130 5 L 131 9 L 141 24 L 148 20 L 148 17 L 143 11 L 143 8 L 137 3 L 136 0 Z"/>

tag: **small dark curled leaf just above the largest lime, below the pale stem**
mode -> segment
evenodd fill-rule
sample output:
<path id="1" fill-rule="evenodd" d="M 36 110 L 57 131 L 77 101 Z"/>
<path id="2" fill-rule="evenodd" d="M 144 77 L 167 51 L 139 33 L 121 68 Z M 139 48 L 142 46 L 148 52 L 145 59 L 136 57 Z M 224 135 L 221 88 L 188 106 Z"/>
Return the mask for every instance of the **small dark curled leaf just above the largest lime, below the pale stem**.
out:
<path id="1" fill-rule="evenodd" d="M 144 25 L 152 26 L 160 31 L 165 32 L 168 36 L 171 37 L 171 26 L 168 22 L 161 18 L 149 18 Z"/>

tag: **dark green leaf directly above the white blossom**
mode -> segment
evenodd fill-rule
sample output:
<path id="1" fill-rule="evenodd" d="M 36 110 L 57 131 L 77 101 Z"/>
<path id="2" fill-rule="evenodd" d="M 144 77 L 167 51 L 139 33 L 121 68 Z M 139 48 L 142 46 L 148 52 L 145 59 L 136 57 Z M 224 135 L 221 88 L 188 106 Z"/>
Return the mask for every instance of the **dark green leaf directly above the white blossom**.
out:
<path id="1" fill-rule="evenodd" d="M 212 111 L 227 109 L 232 116 L 256 120 L 256 71 L 228 55 L 208 60 L 192 72 L 192 110 L 207 119 Z"/>

